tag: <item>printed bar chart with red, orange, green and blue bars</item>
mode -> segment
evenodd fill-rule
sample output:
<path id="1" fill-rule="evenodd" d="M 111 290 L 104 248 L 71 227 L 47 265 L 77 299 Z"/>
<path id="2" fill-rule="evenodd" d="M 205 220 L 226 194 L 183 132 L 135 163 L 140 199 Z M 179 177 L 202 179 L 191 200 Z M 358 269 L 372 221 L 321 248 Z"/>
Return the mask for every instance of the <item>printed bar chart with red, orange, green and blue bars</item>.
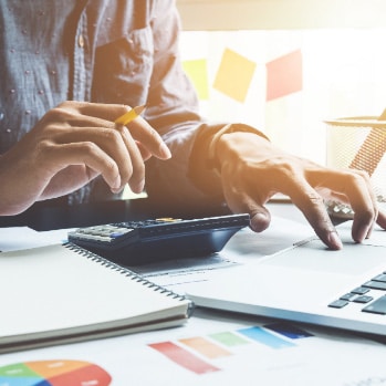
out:
<path id="1" fill-rule="evenodd" d="M 286 350 L 296 347 L 295 340 L 310 336 L 313 335 L 292 325 L 274 323 L 223 331 L 207 336 L 191 336 L 175 342 L 152 343 L 148 346 L 180 367 L 201 375 L 220 372 L 221 366 L 216 361 L 237 355 L 233 350 L 243 345 Z"/>

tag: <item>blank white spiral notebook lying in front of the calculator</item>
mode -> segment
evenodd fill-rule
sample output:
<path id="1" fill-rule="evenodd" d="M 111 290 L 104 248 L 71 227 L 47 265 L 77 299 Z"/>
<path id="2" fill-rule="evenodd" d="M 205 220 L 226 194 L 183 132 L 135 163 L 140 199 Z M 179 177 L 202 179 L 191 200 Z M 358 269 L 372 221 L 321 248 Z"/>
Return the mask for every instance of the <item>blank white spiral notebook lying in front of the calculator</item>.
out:
<path id="1" fill-rule="evenodd" d="M 0 253 L 0 353 L 180 325 L 192 303 L 71 243 Z"/>

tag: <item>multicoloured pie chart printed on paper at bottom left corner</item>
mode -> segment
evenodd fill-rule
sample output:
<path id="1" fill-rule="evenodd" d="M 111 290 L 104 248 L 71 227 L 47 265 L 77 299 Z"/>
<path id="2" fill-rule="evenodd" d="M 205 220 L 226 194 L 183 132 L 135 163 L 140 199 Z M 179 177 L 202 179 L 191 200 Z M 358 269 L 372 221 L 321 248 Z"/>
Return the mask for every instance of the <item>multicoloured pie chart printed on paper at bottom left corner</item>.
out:
<path id="1" fill-rule="evenodd" d="M 102 367 L 83 361 L 35 361 L 0 367 L 0 386 L 108 386 Z"/>

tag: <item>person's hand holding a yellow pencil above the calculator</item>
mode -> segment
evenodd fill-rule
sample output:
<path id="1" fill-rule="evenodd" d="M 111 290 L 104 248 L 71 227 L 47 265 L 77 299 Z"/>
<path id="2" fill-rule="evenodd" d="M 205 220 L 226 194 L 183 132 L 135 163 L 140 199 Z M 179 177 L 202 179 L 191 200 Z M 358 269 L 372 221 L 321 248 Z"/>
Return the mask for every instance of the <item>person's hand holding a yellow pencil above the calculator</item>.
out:
<path id="1" fill-rule="evenodd" d="M 128 127 L 114 121 L 124 105 L 65 102 L 48 112 L 0 157 L 0 215 L 17 215 L 34 201 L 72 192 L 102 175 L 113 192 L 126 184 L 140 192 L 145 160 L 170 157 L 142 117 Z"/>

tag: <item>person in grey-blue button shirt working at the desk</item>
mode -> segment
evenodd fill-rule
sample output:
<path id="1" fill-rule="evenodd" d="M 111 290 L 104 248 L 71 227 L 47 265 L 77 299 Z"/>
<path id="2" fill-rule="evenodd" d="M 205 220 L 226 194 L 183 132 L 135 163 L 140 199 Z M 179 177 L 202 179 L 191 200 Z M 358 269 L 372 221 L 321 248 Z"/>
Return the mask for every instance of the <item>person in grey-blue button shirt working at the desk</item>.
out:
<path id="1" fill-rule="evenodd" d="M 254 127 L 200 116 L 173 0 L 3 0 L 0 9 L 1 216 L 56 197 L 112 198 L 128 184 L 159 205 L 225 201 L 250 213 L 257 232 L 282 192 L 331 249 L 342 243 L 325 199 L 352 206 L 357 242 L 375 221 L 386 228 L 365 173 L 325 168 Z M 143 104 L 143 117 L 115 125 Z"/>

